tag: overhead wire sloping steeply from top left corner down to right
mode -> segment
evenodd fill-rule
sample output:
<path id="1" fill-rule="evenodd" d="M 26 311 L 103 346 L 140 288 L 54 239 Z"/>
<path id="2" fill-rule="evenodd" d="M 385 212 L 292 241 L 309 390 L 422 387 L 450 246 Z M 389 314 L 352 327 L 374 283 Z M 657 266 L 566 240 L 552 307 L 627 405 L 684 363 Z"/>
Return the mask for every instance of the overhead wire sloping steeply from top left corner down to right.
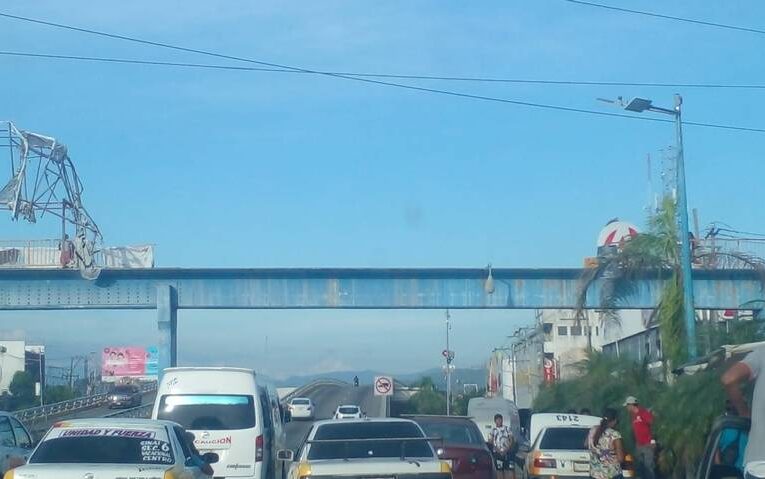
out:
<path id="1" fill-rule="evenodd" d="M 189 48 L 184 47 L 180 45 L 173 45 L 169 43 L 163 43 L 163 42 L 156 42 L 152 40 L 144 40 L 141 38 L 136 37 L 129 37 L 126 35 L 118 35 L 115 33 L 107 33 L 107 32 L 101 32 L 98 30 L 91 30 L 87 28 L 81 28 L 81 27 L 75 27 L 71 25 L 65 25 L 61 23 L 54 23 L 54 22 L 48 22 L 45 20 L 39 20 L 35 18 L 29 18 L 29 17 L 22 17 L 18 15 L 12 15 L 9 13 L 3 13 L 0 12 L 0 17 L 3 18 L 9 18 L 13 20 L 19 20 L 23 22 L 28 23 L 34 23 L 38 25 L 45 25 L 49 27 L 54 28 L 60 28 L 64 30 L 70 30 L 80 33 L 87 33 L 90 35 L 96 35 L 106 38 L 111 38 L 115 40 L 123 40 L 127 42 L 132 43 L 138 43 L 142 45 L 150 45 L 154 47 L 159 48 L 165 48 L 169 50 L 175 50 L 175 51 L 181 51 L 186 53 L 194 53 L 198 55 L 205 55 L 209 57 L 214 58 L 221 58 L 224 60 L 234 60 L 234 61 L 240 61 L 240 62 L 246 62 L 246 63 L 252 63 L 256 65 L 261 65 L 265 67 L 270 68 L 278 68 L 282 70 L 292 70 L 296 72 L 301 73 L 310 73 L 314 75 L 320 75 L 320 76 L 326 76 L 326 77 L 333 77 L 333 78 L 341 78 L 344 80 L 351 80 L 351 81 L 358 81 L 362 83 L 368 83 L 373 85 L 381 85 L 381 86 L 389 86 L 394 88 L 401 88 L 404 90 L 411 90 L 411 91 L 417 91 L 417 92 L 427 92 L 427 93 L 434 93 L 439 95 L 445 95 L 445 96 L 451 96 L 451 97 L 457 97 L 457 98 L 467 98 L 472 100 L 481 100 L 481 101 L 489 101 L 489 102 L 496 102 L 496 103 L 505 103 L 505 104 L 511 104 L 511 105 L 517 105 L 517 106 L 525 106 L 530 108 L 539 108 L 539 109 L 545 109 L 545 110 L 555 110 L 555 111 L 564 111 L 569 113 L 582 113 L 582 114 L 588 114 L 588 115 L 594 115 L 594 116 L 600 116 L 600 117 L 615 117 L 615 118 L 628 118 L 631 120 L 639 120 L 639 121 L 650 121 L 650 122 L 659 122 L 659 123 L 671 123 L 672 120 L 664 119 L 664 118 L 652 118 L 647 116 L 635 116 L 635 115 L 628 115 L 625 113 L 611 113 L 611 112 L 604 112 L 604 111 L 597 111 L 597 110 L 588 110 L 584 108 L 574 108 L 574 107 L 567 107 L 567 106 L 561 106 L 561 105 L 552 105 L 552 104 L 546 104 L 546 103 L 536 103 L 536 102 L 528 102 L 528 101 L 521 101 L 521 100 L 514 100 L 514 99 L 508 99 L 508 98 L 498 98 L 498 97 L 491 97 L 491 96 L 485 96 L 485 95 L 476 95 L 472 93 L 462 93 L 457 91 L 451 91 L 451 90 L 441 90 L 436 88 L 427 88 L 427 87 L 421 87 L 421 86 L 414 86 L 409 85 L 405 83 L 396 83 L 396 82 L 390 82 L 390 81 L 382 81 L 382 80 L 375 80 L 371 78 L 360 78 L 356 76 L 351 75 L 344 75 L 344 74 L 338 74 L 338 73 L 332 73 L 332 72 L 324 72 L 320 70 L 312 70 L 302 67 L 296 67 L 291 65 L 284 65 L 279 63 L 273 63 L 273 62 L 266 62 L 263 60 L 256 60 L 252 58 L 245 58 L 245 57 L 239 57 L 235 55 L 228 55 L 224 53 L 218 53 L 214 51 L 208 51 L 208 50 L 200 50 L 196 48 Z M 691 122 L 686 121 L 684 122 L 686 125 L 690 126 L 699 126 L 699 127 L 705 127 L 705 128 L 715 128 L 715 129 L 721 129 L 721 130 L 730 130 L 730 131 L 746 131 L 746 132 L 752 132 L 752 133 L 765 133 L 765 129 L 763 128 L 751 128 L 751 127 L 742 127 L 742 126 L 736 126 L 736 125 L 722 125 L 722 124 L 716 124 L 716 123 L 702 123 L 702 122 Z"/>

